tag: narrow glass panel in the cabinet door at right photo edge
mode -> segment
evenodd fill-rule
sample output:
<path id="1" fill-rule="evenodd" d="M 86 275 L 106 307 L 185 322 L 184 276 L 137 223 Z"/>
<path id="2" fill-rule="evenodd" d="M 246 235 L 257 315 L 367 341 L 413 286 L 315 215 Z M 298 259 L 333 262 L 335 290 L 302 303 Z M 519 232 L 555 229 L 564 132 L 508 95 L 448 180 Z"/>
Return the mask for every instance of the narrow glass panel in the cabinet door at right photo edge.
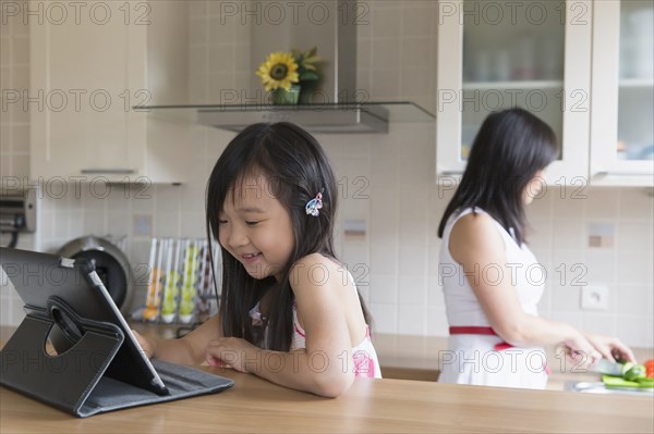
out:
<path id="1" fill-rule="evenodd" d="M 618 144 L 620 160 L 654 159 L 654 2 L 620 2 Z"/>

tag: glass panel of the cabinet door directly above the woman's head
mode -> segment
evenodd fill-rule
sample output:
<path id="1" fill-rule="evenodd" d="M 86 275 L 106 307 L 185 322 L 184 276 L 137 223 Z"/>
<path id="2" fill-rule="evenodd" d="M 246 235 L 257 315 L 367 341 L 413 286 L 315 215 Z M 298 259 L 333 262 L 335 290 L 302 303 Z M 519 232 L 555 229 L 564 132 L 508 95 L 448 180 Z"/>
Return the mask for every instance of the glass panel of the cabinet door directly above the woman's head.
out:
<path id="1" fill-rule="evenodd" d="M 541 117 L 560 141 L 566 3 L 464 0 L 462 8 L 460 159 L 467 160 L 486 115 L 511 107 Z"/>

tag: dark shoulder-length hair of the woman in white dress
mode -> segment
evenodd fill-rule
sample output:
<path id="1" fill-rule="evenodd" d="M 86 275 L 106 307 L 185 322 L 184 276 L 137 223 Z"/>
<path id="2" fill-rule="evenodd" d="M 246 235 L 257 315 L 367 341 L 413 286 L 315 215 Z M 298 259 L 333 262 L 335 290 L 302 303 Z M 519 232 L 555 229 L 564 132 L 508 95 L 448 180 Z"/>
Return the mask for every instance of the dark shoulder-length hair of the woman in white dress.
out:
<path id="1" fill-rule="evenodd" d="M 491 113 L 477 133 L 468 165 L 447 206 L 438 236 L 450 216 L 480 207 L 524 243 L 526 218 L 523 191 L 536 173 L 558 156 L 554 131 L 523 109 Z"/>

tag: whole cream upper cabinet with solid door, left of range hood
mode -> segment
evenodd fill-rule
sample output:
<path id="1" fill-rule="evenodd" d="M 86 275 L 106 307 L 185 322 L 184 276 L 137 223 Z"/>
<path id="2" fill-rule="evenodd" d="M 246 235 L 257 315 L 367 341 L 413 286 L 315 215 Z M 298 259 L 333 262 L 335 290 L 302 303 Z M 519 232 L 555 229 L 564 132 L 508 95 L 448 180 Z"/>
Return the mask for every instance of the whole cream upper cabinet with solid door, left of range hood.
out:
<path id="1" fill-rule="evenodd" d="M 31 177 L 184 182 L 187 127 L 152 120 L 132 107 L 164 98 L 170 84 L 153 77 L 185 67 L 186 16 L 180 10 L 185 7 L 38 3 L 43 16 L 29 26 L 31 88 L 24 97 L 31 113 Z M 160 50 L 171 39 L 165 18 L 175 14 L 183 33 Z M 185 84 L 175 86 L 185 90 Z"/>

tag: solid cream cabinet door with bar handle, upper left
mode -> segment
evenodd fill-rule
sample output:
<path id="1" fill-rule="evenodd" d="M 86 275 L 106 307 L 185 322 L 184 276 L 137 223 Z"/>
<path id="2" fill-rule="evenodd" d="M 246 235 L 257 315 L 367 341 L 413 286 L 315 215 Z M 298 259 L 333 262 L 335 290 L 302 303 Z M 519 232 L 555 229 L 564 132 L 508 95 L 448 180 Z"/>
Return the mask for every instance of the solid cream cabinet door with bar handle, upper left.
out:
<path id="1" fill-rule="evenodd" d="M 145 115 L 131 106 L 145 89 L 147 25 L 133 8 L 92 2 L 31 23 L 33 177 L 142 174 Z"/>

